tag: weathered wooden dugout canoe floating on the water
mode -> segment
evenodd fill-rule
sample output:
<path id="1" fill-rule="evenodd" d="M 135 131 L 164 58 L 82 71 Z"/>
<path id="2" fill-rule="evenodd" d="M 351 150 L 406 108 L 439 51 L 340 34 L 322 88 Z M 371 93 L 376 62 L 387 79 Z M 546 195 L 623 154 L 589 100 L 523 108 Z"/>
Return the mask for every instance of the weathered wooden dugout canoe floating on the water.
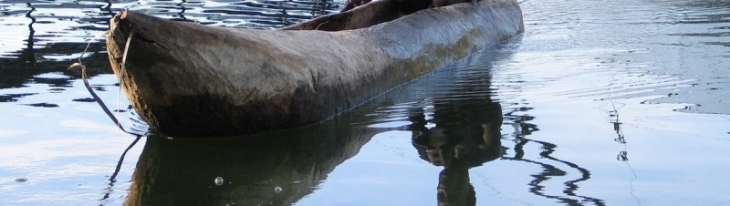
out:
<path id="1" fill-rule="evenodd" d="M 515 0 L 410 15 L 392 12 L 392 2 L 276 30 L 125 11 L 110 20 L 110 65 L 152 129 L 175 137 L 231 136 L 331 118 L 524 31 Z"/>

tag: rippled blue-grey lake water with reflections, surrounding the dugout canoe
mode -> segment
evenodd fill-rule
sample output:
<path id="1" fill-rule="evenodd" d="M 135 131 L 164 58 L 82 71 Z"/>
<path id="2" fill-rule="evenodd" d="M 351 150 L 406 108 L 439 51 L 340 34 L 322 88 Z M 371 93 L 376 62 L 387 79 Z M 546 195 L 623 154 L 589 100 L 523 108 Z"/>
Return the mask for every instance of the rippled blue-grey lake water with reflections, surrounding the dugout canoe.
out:
<path id="1" fill-rule="evenodd" d="M 270 29 L 341 1 L 0 1 L 0 205 L 727 205 L 730 1 L 524 0 L 526 33 L 336 118 L 177 139 L 119 95 L 122 9 Z"/>

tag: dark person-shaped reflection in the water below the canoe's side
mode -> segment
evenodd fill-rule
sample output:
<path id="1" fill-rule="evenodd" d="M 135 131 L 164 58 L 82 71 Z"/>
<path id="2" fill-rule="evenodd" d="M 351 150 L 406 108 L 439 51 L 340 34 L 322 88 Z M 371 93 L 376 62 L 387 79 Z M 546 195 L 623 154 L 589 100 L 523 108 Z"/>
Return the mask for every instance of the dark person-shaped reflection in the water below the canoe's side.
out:
<path id="1" fill-rule="evenodd" d="M 488 98 L 434 101 L 433 119 L 426 119 L 424 113 L 423 108 L 410 110 L 412 143 L 423 160 L 443 166 L 437 189 L 439 205 L 475 205 L 469 169 L 502 155 L 499 103 Z"/>

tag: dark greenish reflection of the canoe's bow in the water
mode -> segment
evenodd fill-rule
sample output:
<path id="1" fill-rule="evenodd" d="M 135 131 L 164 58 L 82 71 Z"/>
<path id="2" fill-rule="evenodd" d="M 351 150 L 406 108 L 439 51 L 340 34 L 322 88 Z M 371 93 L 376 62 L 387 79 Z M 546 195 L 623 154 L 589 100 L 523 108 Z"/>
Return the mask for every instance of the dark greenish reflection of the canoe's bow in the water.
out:
<path id="1" fill-rule="evenodd" d="M 343 116 L 225 139 L 147 139 L 125 205 L 290 205 L 377 133 Z M 220 178 L 219 178 L 220 177 Z"/>

